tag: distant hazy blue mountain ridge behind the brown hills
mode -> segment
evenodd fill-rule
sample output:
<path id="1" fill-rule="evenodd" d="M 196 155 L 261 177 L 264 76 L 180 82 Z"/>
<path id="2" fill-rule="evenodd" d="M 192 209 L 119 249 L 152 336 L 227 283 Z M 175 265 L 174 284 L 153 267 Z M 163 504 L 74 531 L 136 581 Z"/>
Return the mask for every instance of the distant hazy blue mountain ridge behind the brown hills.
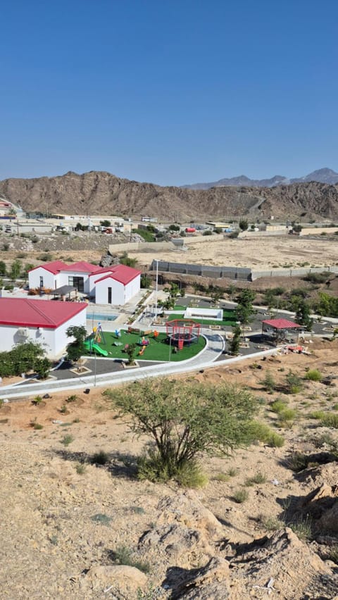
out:
<path id="1" fill-rule="evenodd" d="M 187 189 L 210 189 L 211 187 L 223 187 L 227 186 L 246 186 L 246 187 L 276 187 L 277 185 L 290 185 L 292 183 L 308 183 L 317 181 L 319 183 L 329 183 L 334 185 L 338 183 L 338 173 L 332 169 L 323 168 L 313 171 L 305 177 L 294 177 L 289 179 L 284 175 L 275 175 L 270 179 L 249 179 L 246 175 L 239 175 L 239 177 L 225 177 L 218 181 L 209 183 L 193 183 L 191 185 L 183 185 Z"/>

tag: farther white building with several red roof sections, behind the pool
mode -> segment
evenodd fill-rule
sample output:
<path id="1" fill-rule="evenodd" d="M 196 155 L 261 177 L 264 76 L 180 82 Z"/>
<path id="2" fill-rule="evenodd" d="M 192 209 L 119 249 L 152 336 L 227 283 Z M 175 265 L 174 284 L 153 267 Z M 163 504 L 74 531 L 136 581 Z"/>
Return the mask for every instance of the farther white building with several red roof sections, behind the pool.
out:
<path id="1" fill-rule="evenodd" d="M 141 271 L 126 265 L 101 268 L 85 261 L 66 265 L 53 261 L 39 265 L 28 273 L 30 289 L 57 289 L 64 285 L 88 294 L 96 304 L 124 306 L 141 287 Z"/>

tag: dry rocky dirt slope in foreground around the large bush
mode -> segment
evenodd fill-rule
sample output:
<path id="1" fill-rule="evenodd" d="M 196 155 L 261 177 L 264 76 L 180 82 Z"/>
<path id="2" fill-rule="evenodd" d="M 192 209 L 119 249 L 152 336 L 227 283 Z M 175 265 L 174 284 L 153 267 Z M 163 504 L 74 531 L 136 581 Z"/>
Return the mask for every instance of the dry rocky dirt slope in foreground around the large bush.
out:
<path id="1" fill-rule="evenodd" d="M 295 474 L 287 458 L 318 453 L 323 435 L 337 440 L 337 430 L 318 426 L 309 413 L 337 413 L 338 387 L 334 380 L 330 386 L 303 381 L 298 394 L 268 394 L 262 384 L 268 371 L 281 386 L 290 369 L 302 378 L 306 368 L 337 375 L 338 342 L 317 340 L 311 347 L 311 356 L 248 360 L 189 376 L 246 386 L 261 399 L 260 419 L 285 439 L 281 448 L 258 444 L 227 458 L 203 457 L 209 482 L 197 491 L 134 478 L 134 456 L 146 439 L 132 436 L 102 389 L 79 392 L 71 402 L 69 394 L 53 394 L 39 406 L 31 399 L 4 404 L 0 598 L 337 598 L 338 567 L 330 558 L 335 549 L 338 561 L 338 463 L 313 458 Z M 269 408 L 277 397 L 296 409 L 293 423 L 277 423 Z M 92 464 L 100 450 L 108 453 L 106 465 Z M 261 482 L 249 485 L 258 473 Z M 292 520 L 289 509 L 318 487 L 320 498 L 336 499 L 335 520 L 323 521 L 324 511 L 320 532 L 314 527 L 313 537 L 301 540 L 308 521 L 299 521 L 297 537 L 284 527 Z M 247 494 L 242 503 L 234 501 L 239 491 Z M 313 518 L 316 523 L 318 506 Z M 148 563 L 146 575 L 115 565 L 121 546 Z"/>

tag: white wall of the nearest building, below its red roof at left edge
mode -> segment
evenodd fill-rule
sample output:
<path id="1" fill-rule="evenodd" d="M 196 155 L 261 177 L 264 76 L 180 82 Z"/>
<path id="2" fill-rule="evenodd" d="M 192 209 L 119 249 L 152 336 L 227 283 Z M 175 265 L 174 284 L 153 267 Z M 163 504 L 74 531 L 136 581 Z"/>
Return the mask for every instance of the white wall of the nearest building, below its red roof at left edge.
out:
<path id="1" fill-rule="evenodd" d="M 86 313 L 87 306 L 75 315 L 73 318 L 63 323 L 57 329 L 49 329 L 41 327 L 39 330 L 37 327 L 17 327 L 16 325 L 0 325 L 0 351 L 8 351 L 15 346 L 15 344 L 22 342 L 35 342 L 40 344 L 46 351 L 48 358 L 56 358 L 65 351 L 65 346 L 73 341 L 71 337 L 67 337 L 65 332 L 68 327 L 74 326 L 86 326 Z M 28 339 L 20 339 L 18 330 L 25 329 L 27 331 Z"/>

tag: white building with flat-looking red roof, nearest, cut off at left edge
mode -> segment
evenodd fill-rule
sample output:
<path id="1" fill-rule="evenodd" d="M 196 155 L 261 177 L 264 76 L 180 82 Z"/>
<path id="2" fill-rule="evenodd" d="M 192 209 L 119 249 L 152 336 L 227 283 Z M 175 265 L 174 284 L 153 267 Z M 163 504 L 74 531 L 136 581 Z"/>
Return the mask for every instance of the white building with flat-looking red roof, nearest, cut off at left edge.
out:
<path id="1" fill-rule="evenodd" d="M 86 312 L 85 302 L 0 298 L 0 349 L 35 342 L 49 358 L 56 358 L 72 342 L 68 327 L 86 326 Z"/>

